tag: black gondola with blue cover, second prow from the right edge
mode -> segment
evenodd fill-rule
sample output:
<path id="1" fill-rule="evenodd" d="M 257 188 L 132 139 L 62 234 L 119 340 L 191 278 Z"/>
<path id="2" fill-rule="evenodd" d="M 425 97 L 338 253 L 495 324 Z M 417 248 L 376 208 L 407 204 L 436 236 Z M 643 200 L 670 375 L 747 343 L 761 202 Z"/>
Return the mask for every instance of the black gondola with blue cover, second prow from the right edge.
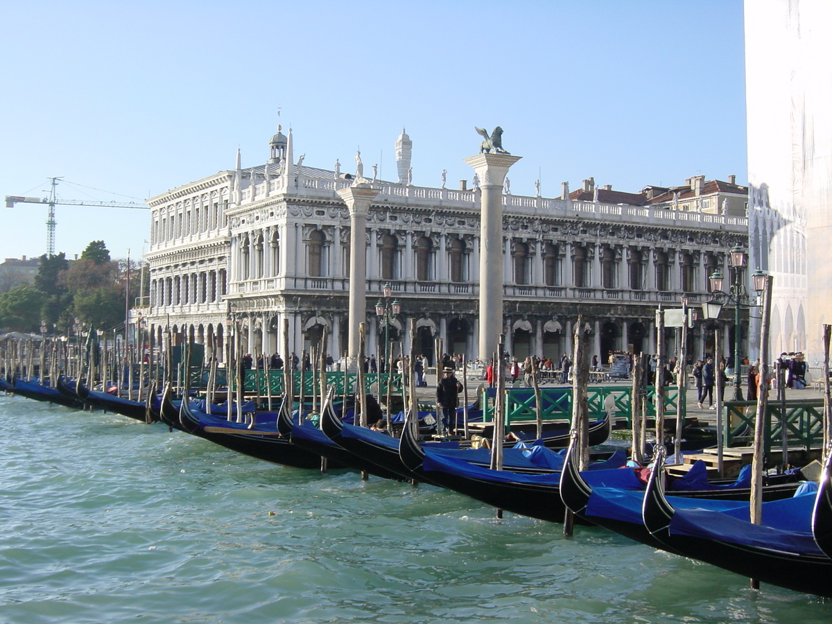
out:
<path id="1" fill-rule="evenodd" d="M 815 513 L 825 506 L 815 504 L 821 498 L 816 493 L 763 503 L 765 523 L 751 524 L 747 503 L 721 512 L 705 501 L 701 508 L 678 508 L 678 499 L 665 496 L 662 465 L 657 458 L 642 508 L 644 526 L 661 544 L 746 578 L 832 597 L 832 558 L 812 533 Z M 819 533 L 828 529 L 820 526 L 823 522 L 817 519 Z"/>

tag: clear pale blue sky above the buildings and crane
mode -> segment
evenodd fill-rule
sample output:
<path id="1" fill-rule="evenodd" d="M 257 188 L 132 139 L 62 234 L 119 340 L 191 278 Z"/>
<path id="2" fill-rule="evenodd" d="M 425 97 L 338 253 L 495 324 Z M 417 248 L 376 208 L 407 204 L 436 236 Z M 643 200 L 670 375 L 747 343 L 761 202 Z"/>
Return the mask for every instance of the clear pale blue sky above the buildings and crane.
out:
<path id="1" fill-rule="evenodd" d="M 522 156 L 514 195 L 747 180 L 741 0 L 4 0 L 0 195 L 144 201 L 295 158 L 470 180 L 475 126 Z M 470 182 L 468 183 L 470 187 Z M 56 250 L 147 249 L 149 210 L 57 206 Z M 47 207 L 0 206 L 0 261 L 46 252 Z"/>

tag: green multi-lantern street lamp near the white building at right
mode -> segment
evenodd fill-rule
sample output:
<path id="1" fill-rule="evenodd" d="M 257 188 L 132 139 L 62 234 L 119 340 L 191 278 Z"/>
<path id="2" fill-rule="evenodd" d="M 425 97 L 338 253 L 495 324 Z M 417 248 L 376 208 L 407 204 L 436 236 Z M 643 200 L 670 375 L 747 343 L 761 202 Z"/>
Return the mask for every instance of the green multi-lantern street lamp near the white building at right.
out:
<path id="1" fill-rule="evenodd" d="M 711 301 L 702 305 L 702 312 L 706 319 L 716 319 L 723 305 L 734 305 L 734 400 L 742 400 L 742 389 L 740 387 L 741 372 L 740 372 L 740 308 L 754 308 L 757 298 L 765 290 L 765 272 L 757 269 L 751 275 L 754 282 L 754 290 L 757 292 L 757 297 L 750 295 L 742 281 L 743 269 L 748 264 L 748 255 L 741 247 L 735 247 L 730 250 L 728 256 L 730 266 L 734 268 L 734 283 L 730 285 L 726 292 L 723 289 L 725 278 L 719 270 L 715 270 L 708 281 L 711 284 L 711 294 L 714 295 Z M 716 354 L 715 354 L 716 355 Z"/>

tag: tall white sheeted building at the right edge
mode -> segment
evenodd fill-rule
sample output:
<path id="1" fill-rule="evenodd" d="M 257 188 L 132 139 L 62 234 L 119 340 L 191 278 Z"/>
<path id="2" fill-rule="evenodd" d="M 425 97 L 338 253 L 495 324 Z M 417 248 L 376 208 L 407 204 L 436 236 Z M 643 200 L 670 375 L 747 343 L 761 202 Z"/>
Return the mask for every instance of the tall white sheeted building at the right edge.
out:
<path id="1" fill-rule="evenodd" d="M 750 268 L 773 277 L 771 357 L 811 366 L 832 323 L 830 41 L 830 2 L 745 0 Z"/>

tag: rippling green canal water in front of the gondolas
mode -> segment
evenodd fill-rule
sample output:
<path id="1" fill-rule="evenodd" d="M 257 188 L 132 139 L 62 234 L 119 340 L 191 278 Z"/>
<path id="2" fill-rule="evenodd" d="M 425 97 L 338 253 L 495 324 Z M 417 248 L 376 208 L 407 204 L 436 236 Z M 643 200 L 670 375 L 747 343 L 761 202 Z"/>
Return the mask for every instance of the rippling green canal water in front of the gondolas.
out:
<path id="1" fill-rule="evenodd" d="M 832 604 L 598 528 L 0 395 L 0 622 L 800 622 Z"/>

